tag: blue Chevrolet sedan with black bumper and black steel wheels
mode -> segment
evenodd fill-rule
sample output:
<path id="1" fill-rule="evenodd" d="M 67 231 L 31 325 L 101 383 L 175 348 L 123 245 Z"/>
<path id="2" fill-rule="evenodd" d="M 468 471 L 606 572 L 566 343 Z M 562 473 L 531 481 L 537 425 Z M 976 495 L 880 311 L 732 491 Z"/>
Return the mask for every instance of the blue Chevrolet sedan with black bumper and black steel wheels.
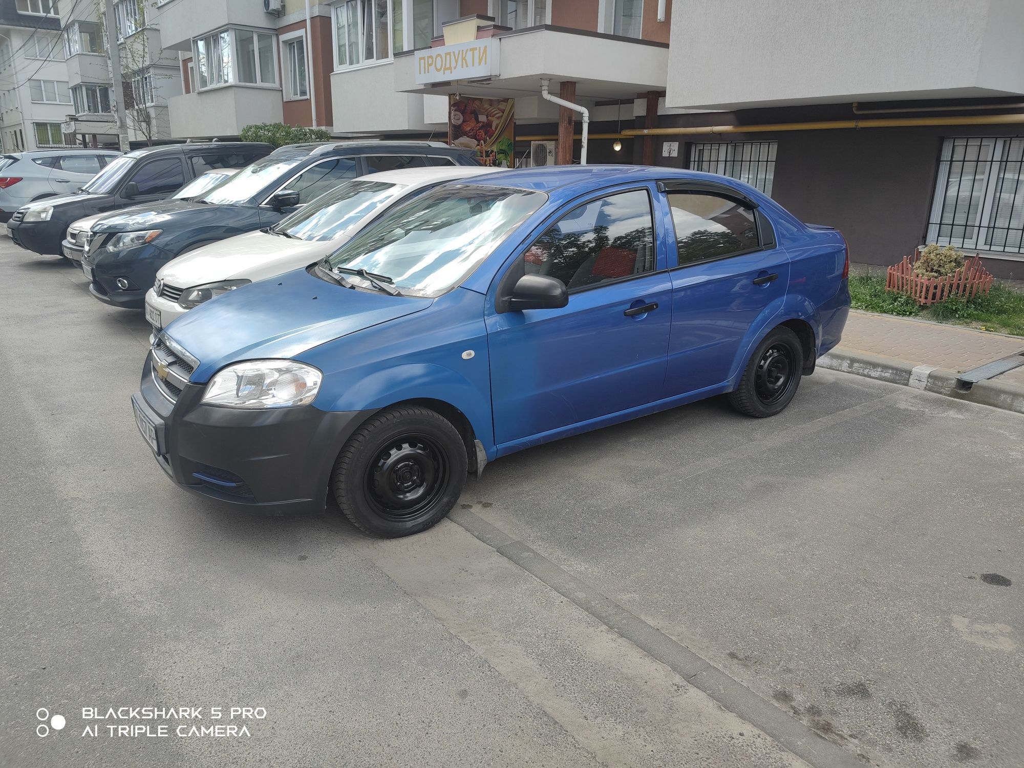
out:
<path id="1" fill-rule="evenodd" d="M 733 179 L 499 172 L 175 321 L 135 420 L 190 490 L 279 510 L 333 494 L 407 536 L 521 449 L 717 394 L 779 413 L 840 340 L 848 268 L 838 231 Z"/>

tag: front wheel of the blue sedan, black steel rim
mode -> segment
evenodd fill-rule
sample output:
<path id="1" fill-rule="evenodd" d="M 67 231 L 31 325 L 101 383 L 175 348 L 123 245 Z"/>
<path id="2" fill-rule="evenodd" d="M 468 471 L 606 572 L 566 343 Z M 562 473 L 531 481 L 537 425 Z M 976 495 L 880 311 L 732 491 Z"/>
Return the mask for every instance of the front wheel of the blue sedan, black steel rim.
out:
<path id="1" fill-rule="evenodd" d="M 401 406 L 355 430 L 338 455 L 331 486 L 356 527 L 396 539 L 426 530 L 449 513 L 467 466 L 466 444 L 447 419 Z"/>

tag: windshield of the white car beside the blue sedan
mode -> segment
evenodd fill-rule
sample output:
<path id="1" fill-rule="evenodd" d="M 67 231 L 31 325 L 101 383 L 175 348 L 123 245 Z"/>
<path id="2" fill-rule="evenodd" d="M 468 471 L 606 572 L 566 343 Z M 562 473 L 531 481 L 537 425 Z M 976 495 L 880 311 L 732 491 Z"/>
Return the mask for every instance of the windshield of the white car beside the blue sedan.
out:
<path id="1" fill-rule="evenodd" d="M 379 211 L 403 187 L 383 181 L 346 181 L 283 218 L 273 230 L 299 240 L 334 240 Z"/>

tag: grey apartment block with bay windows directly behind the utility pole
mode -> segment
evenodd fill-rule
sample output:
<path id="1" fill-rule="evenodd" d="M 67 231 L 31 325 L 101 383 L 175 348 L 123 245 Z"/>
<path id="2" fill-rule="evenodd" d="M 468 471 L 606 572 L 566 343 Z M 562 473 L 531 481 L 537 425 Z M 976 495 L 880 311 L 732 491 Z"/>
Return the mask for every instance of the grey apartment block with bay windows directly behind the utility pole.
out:
<path id="1" fill-rule="evenodd" d="M 105 12 L 98 2 L 62 0 L 60 27 L 72 109 L 66 130 L 78 143 L 116 144 Z M 169 99 L 181 93 L 177 51 L 165 50 L 145 0 L 118 0 L 114 24 L 121 54 L 128 138 L 150 144 L 171 138 Z"/>

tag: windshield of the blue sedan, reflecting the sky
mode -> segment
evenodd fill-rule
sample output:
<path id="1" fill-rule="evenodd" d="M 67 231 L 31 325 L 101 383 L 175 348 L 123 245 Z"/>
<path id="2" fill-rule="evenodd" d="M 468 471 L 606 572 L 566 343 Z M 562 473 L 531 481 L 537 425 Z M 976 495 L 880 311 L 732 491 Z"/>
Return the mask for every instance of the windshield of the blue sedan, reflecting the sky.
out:
<path id="1" fill-rule="evenodd" d="M 445 185 L 386 211 L 326 259 L 366 269 L 413 296 L 439 296 L 498 247 L 547 196 L 474 184 Z M 358 278 L 345 272 L 345 279 Z"/>

